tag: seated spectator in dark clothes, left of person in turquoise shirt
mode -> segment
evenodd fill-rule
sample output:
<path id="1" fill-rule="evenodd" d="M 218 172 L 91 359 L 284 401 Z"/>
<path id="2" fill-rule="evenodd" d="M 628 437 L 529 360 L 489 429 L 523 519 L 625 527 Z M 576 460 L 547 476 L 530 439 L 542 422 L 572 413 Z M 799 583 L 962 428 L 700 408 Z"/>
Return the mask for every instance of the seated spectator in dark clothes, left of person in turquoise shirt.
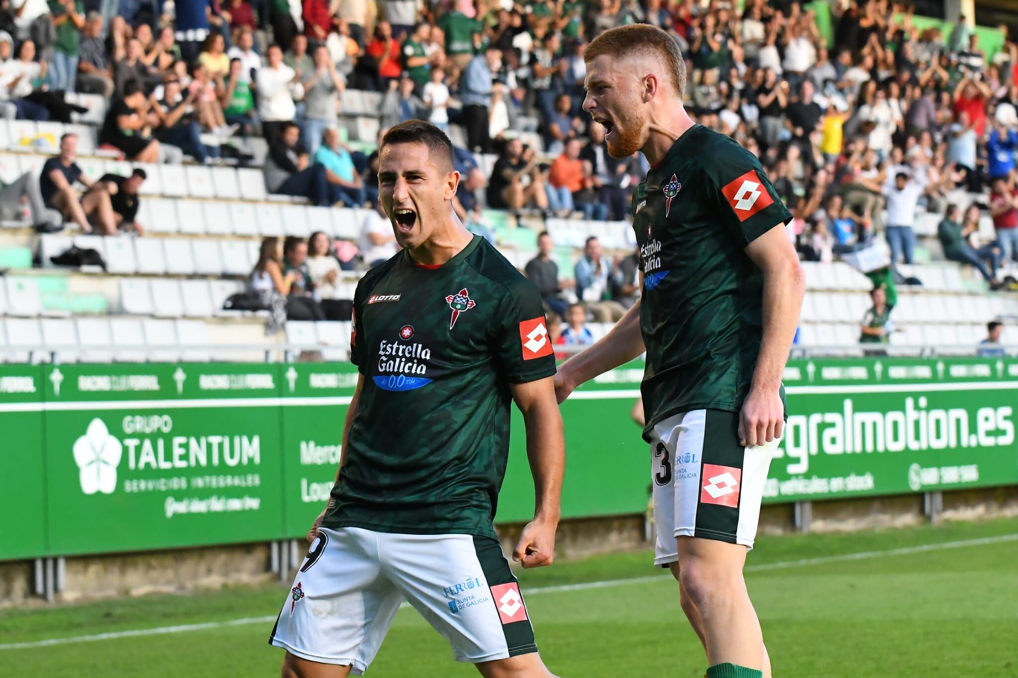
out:
<path id="1" fill-rule="evenodd" d="M 330 190 L 325 166 L 309 163 L 307 151 L 300 145 L 300 129 L 293 122 L 282 123 L 279 135 L 269 143 L 265 185 L 269 192 L 306 197 L 319 207 L 339 201 Z"/>

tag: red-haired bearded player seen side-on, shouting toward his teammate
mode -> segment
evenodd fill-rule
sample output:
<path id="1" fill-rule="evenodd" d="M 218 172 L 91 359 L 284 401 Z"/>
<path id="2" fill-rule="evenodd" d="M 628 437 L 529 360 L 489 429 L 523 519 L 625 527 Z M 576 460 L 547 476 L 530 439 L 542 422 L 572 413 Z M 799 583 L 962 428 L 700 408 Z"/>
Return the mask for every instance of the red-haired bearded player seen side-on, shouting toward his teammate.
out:
<path id="1" fill-rule="evenodd" d="M 667 33 L 606 31 L 584 59 L 583 109 L 609 153 L 651 163 L 631 208 L 643 289 L 560 368 L 558 397 L 646 351 L 655 563 L 679 581 L 709 678 L 770 676 L 742 568 L 784 427 L 781 377 L 804 288 L 785 233 L 792 215 L 752 154 L 683 109 L 685 60 Z"/>

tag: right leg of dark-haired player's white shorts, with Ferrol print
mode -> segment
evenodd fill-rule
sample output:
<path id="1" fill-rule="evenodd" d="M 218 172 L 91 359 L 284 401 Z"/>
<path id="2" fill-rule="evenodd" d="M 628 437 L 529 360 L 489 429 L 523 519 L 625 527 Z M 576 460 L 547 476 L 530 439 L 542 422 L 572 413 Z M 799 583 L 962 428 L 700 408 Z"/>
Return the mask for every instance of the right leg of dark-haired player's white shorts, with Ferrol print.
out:
<path id="1" fill-rule="evenodd" d="M 469 534 L 390 534 L 384 573 L 452 645 L 457 661 L 535 653 L 526 603 L 502 548 Z"/>

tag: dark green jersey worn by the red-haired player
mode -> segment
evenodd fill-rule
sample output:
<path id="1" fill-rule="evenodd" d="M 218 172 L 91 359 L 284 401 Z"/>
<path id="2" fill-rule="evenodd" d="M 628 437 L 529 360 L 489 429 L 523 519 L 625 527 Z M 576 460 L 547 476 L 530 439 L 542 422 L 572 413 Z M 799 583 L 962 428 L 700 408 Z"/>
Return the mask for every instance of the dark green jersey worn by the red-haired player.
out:
<path id="1" fill-rule="evenodd" d="M 679 412 L 737 411 L 762 334 L 764 277 L 744 249 L 791 213 L 751 153 L 697 124 L 647 172 L 632 215 L 643 271 L 644 437 Z"/>

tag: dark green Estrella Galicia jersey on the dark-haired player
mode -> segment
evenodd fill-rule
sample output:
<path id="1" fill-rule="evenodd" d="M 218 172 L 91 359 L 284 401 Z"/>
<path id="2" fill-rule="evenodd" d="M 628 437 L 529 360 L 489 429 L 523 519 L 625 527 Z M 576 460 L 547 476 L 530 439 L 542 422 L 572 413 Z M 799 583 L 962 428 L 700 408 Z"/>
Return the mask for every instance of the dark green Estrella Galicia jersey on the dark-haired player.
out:
<path id="1" fill-rule="evenodd" d="M 438 268 L 373 269 L 353 314 L 364 385 L 323 524 L 495 536 L 509 385 L 555 374 L 536 288 L 474 236 Z"/>

